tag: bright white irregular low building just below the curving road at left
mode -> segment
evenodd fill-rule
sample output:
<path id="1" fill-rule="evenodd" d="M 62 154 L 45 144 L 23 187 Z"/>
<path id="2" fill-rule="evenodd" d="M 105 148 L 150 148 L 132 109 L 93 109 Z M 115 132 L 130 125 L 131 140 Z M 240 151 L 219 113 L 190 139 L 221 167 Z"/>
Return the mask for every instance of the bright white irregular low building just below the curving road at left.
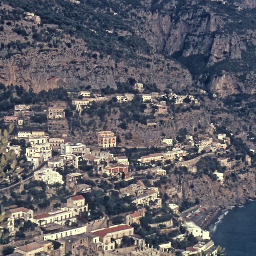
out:
<path id="1" fill-rule="evenodd" d="M 58 172 L 55 172 L 55 170 L 47 167 L 37 170 L 34 173 L 34 178 L 35 180 L 44 181 L 45 183 L 51 185 L 55 183 L 64 183 L 62 180 L 62 176 Z"/>

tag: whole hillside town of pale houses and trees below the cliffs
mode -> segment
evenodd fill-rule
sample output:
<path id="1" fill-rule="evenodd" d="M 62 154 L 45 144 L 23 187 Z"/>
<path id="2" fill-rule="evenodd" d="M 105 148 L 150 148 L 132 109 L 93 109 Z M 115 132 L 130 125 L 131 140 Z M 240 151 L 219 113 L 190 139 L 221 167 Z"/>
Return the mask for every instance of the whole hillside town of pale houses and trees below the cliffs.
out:
<path id="1" fill-rule="evenodd" d="M 126 104 L 139 97 L 144 111 L 153 111 L 154 126 L 159 116 L 170 116 L 169 102 L 201 104 L 193 95 L 144 94 L 142 83 L 134 90 L 138 93 L 79 91 L 75 97 L 72 92 L 72 111 L 81 116 L 97 103 Z M 87 144 L 70 136 L 68 108 L 65 101 L 39 111 L 16 104 L 13 114 L 3 117 L 7 130 L 10 123 L 16 127 L 5 135 L 5 150 L 24 161 L 23 172 L 0 188 L 6 212 L 0 246 L 10 250 L 5 255 L 217 255 L 209 227 L 223 208 L 189 201 L 182 180 L 170 177 L 207 176 L 221 189 L 230 177 L 249 177 L 253 150 L 244 159 L 233 157 L 234 136 L 219 132 L 217 123 L 209 123 L 204 135 L 181 129 L 175 138 L 163 134 L 158 147 L 137 148 L 129 148 L 129 138 L 124 146 L 116 131 L 97 127 Z M 38 113 L 47 115 L 44 130 L 31 125 Z"/>

